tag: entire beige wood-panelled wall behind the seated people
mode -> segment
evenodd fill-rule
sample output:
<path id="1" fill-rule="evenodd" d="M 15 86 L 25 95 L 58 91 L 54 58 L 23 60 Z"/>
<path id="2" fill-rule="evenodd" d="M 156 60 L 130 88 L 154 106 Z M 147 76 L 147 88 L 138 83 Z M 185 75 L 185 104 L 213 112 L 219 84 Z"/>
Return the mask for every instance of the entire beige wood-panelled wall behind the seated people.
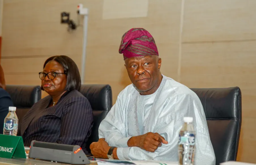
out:
<path id="1" fill-rule="evenodd" d="M 83 3 L 90 10 L 85 83 L 110 84 L 115 102 L 130 83 L 118 53 L 121 36 L 143 27 L 156 40 L 164 75 L 188 87 L 241 88 L 238 160 L 256 163 L 256 1 L 141 1 L 4 0 L 1 64 L 6 82 L 40 84 L 38 72 L 52 55 L 68 55 L 80 67 L 82 27 L 68 33 L 60 13 L 70 12 L 77 21 L 76 6 Z"/>

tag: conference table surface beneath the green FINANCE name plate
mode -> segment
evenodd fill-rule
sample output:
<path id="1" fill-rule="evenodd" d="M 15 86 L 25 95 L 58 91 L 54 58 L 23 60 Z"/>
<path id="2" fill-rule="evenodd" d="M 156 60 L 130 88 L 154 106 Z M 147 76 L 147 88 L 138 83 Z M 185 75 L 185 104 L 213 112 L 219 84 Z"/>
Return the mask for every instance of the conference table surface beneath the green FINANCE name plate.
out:
<path id="1" fill-rule="evenodd" d="M 65 163 L 35 160 L 35 159 L 7 159 L 0 158 L 0 165 L 67 165 Z M 96 162 L 90 165 L 97 165 Z"/>

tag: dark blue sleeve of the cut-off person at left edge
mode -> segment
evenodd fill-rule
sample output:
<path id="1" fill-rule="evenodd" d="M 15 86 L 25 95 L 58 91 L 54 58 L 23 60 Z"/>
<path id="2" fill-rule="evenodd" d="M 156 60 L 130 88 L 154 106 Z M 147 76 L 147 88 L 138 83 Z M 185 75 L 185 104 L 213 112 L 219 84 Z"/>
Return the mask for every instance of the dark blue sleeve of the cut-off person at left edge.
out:
<path id="1" fill-rule="evenodd" d="M 0 134 L 3 134 L 4 118 L 8 114 L 9 107 L 13 107 L 10 97 L 4 96 L 0 98 Z"/>

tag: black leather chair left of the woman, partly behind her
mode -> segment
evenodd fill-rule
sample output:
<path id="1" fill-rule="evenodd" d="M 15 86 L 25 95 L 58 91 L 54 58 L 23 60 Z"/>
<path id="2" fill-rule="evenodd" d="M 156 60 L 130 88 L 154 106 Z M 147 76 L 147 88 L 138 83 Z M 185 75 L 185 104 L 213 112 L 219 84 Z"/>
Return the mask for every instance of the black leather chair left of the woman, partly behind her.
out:
<path id="1" fill-rule="evenodd" d="M 41 99 L 40 86 L 7 85 L 6 91 L 10 94 L 19 123 L 30 108 Z M 20 125 L 18 126 L 19 135 Z"/>

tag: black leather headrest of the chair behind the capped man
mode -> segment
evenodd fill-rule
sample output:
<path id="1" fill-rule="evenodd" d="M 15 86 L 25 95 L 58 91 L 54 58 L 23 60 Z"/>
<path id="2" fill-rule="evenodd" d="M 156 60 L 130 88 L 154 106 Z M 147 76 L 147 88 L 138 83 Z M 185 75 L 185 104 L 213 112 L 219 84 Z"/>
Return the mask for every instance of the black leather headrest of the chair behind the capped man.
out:
<path id="1" fill-rule="evenodd" d="M 201 100 L 207 119 L 241 118 L 241 90 L 229 88 L 192 88 Z"/>

